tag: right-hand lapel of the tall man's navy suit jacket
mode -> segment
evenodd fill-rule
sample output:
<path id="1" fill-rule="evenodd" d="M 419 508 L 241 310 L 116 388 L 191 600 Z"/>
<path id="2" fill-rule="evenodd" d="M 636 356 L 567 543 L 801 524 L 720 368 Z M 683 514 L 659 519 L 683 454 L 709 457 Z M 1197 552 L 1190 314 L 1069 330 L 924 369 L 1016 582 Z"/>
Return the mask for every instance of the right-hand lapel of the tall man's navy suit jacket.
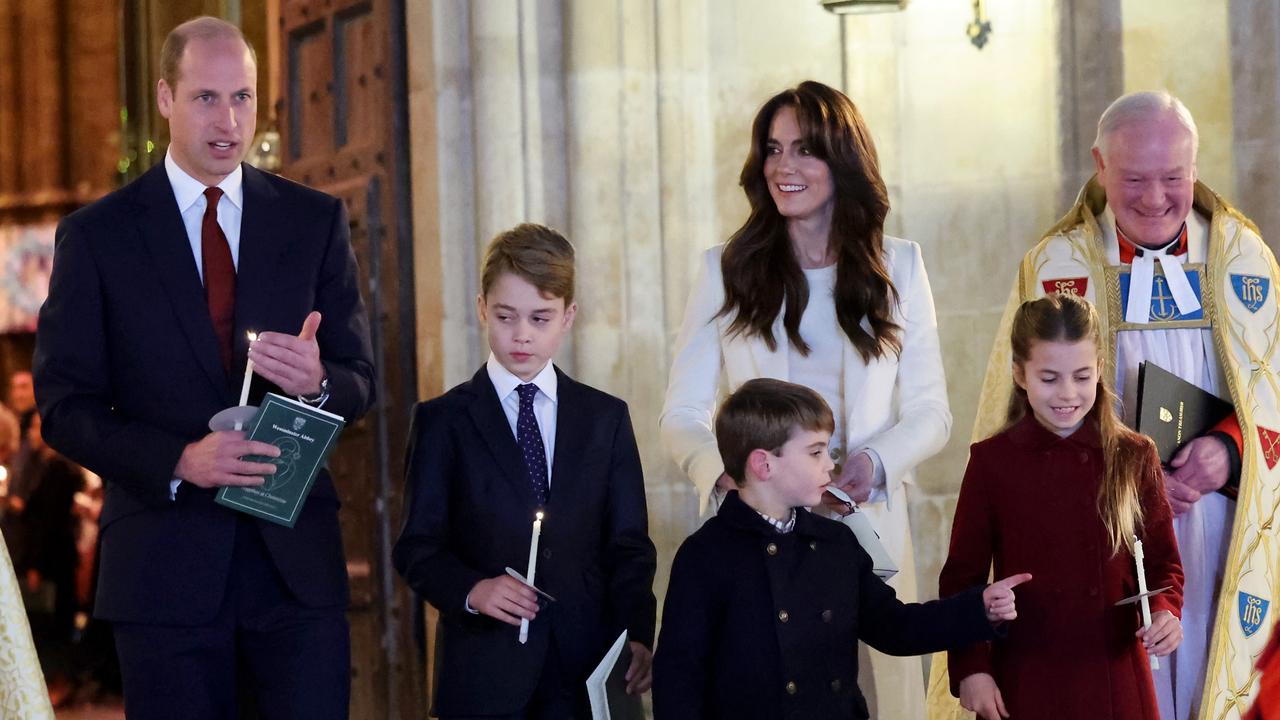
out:
<path id="1" fill-rule="evenodd" d="M 269 316 L 275 307 L 271 291 L 280 283 L 280 273 L 288 272 L 282 258 L 292 237 L 284 214 L 275 206 L 279 193 L 261 170 L 241 167 L 244 169 L 244 209 L 236 268 L 236 329 L 232 336 L 232 368 L 237 377 L 239 373 L 234 370 L 243 372 L 248 352 L 246 333 L 264 329 L 296 333 L 301 329 L 276 327 Z"/>

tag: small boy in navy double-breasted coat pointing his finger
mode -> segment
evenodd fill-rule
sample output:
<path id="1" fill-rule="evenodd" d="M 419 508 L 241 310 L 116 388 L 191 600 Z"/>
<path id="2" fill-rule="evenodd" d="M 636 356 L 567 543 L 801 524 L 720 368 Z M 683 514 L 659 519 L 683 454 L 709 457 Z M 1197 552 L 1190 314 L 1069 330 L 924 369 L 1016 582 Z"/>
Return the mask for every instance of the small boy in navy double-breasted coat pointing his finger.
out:
<path id="1" fill-rule="evenodd" d="M 737 484 L 676 553 L 654 662 L 654 716 L 868 717 L 858 641 L 922 655 L 995 634 L 1016 616 L 1014 575 L 902 603 L 842 524 L 805 511 L 831 482 L 835 423 L 814 391 L 754 379 L 716 418 Z"/>

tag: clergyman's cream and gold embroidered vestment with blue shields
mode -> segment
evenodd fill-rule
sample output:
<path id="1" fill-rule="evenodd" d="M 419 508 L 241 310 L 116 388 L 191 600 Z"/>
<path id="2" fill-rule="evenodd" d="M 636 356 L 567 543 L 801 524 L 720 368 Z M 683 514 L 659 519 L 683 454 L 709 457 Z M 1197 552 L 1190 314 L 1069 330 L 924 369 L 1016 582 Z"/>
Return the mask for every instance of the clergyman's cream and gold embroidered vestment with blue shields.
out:
<path id="1" fill-rule="evenodd" d="M 1271 527 L 1280 509 L 1280 309 L 1274 293 L 1280 272 L 1253 223 L 1202 183 L 1196 186 L 1192 215 L 1193 236 L 1199 232 L 1204 240 L 1198 250 L 1193 240 L 1184 268 L 1201 307 L 1180 311 L 1161 272 L 1152 284 L 1149 322 L 1130 323 L 1125 319 L 1130 278 L 1116 261 L 1106 195 L 1096 179 L 1084 186 L 1071 211 L 1023 258 L 987 364 L 973 439 L 1005 424 L 1014 311 L 1050 292 L 1082 295 L 1097 306 L 1106 372 L 1129 402 L 1126 419 L 1132 420 L 1137 361 L 1144 359 L 1172 364 L 1166 369 L 1231 400 L 1243 437 L 1238 501 L 1233 509 L 1225 497 L 1207 496 L 1178 521 L 1187 566 L 1184 614 L 1189 612 L 1180 650 L 1184 661 L 1164 662 L 1156 684 L 1165 696 L 1161 705 L 1178 706 L 1178 717 L 1188 716 L 1183 710 L 1188 705 L 1199 706 L 1201 719 L 1239 717 L 1256 691 L 1253 664 L 1274 625 L 1270 610 L 1280 588 L 1275 560 L 1280 538 Z M 1193 597 L 1197 589 L 1199 601 Z M 1192 653 L 1202 660 L 1194 661 Z M 936 657 L 931 720 L 965 716 L 950 696 L 945 669 Z M 1188 688 L 1198 698 L 1187 697 Z"/>

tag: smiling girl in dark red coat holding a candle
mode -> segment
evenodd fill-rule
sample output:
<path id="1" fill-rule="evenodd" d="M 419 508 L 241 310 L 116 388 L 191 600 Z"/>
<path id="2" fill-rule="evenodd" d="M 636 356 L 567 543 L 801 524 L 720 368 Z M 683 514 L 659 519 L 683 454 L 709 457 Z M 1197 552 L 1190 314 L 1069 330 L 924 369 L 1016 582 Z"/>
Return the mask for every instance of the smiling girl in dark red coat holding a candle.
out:
<path id="1" fill-rule="evenodd" d="M 948 653 L 951 692 L 984 720 L 1157 720 L 1148 653 L 1181 642 L 1183 571 L 1156 447 L 1105 382 L 1093 306 L 1025 302 L 1011 333 L 1009 424 L 970 448 L 940 578 L 943 597 L 1030 573 L 1004 638 Z M 1133 541 L 1146 555 L 1142 628 Z M 1025 600 L 1024 600 L 1025 598 Z"/>

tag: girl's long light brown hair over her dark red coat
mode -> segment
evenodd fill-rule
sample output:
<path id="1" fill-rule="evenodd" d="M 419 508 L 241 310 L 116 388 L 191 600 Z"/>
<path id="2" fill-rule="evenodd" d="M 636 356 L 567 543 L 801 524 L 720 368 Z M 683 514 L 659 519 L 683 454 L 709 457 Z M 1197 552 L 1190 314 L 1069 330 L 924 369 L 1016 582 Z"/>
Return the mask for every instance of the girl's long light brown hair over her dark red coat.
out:
<path id="1" fill-rule="evenodd" d="M 1023 302 L 1010 333 L 1014 365 L 1025 368 L 1037 342 L 1091 341 L 1098 348 L 1098 391 L 1085 416 L 1102 438 L 1103 479 L 1098 488 L 1098 514 L 1111 541 L 1111 552 L 1133 548 L 1142 533 L 1142 470 L 1151 441 L 1124 425 L 1116 414 L 1116 396 L 1103 372 L 1102 323 L 1093 305 L 1075 295 L 1048 295 Z M 1027 391 L 1014 383 L 1009 397 L 1009 424 L 1021 420 L 1030 409 Z"/>

